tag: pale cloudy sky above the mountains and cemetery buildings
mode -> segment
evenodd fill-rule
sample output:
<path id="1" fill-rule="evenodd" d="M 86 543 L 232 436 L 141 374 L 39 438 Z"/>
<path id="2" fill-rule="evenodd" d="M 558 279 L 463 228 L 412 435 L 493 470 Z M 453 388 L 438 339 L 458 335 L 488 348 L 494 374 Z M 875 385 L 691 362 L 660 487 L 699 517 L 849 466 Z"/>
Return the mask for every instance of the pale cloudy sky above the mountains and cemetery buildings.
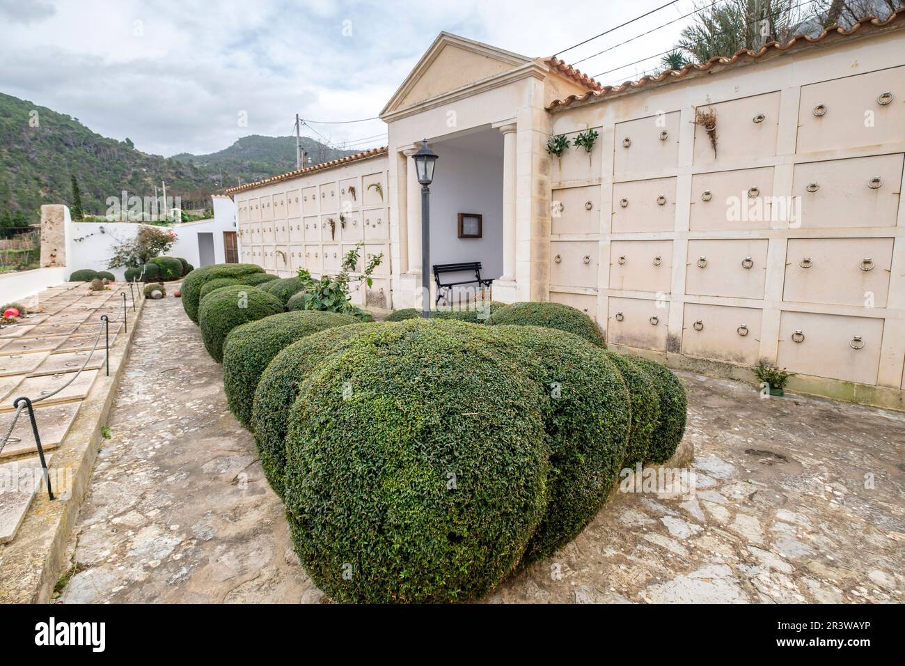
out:
<path id="1" fill-rule="evenodd" d="M 442 30 L 546 56 L 667 2 L 0 0 L 0 92 L 129 137 L 139 150 L 200 154 L 247 134 L 291 134 L 296 112 L 310 121 L 376 116 Z M 575 63 L 609 49 L 578 68 L 606 72 L 604 83 L 636 78 L 659 59 L 634 61 L 670 48 L 688 19 L 616 44 L 694 2 L 678 0 L 562 57 Z M 310 127 L 308 136 L 317 130 L 356 149 L 383 145 L 386 132 L 381 121 Z"/>

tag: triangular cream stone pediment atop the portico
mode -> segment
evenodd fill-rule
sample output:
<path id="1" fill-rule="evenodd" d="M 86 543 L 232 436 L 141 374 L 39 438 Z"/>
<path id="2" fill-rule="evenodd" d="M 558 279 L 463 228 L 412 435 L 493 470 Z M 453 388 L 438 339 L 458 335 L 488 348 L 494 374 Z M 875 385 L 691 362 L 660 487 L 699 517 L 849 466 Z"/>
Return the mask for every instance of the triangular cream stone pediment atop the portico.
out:
<path id="1" fill-rule="evenodd" d="M 527 63 L 531 63 L 531 59 L 524 55 L 441 33 L 380 115 L 414 106 L 474 82 L 492 79 Z"/>

